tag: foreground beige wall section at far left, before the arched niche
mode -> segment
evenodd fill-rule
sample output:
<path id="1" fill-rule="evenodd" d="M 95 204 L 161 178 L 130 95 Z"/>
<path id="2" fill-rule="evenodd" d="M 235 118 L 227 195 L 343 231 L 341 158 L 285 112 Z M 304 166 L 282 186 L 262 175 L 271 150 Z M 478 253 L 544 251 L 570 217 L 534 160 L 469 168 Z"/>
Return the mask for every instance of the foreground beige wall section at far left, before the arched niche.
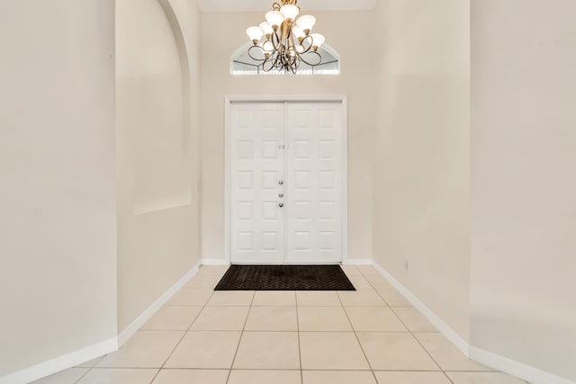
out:
<path id="1" fill-rule="evenodd" d="M 114 2 L 4 0 L 0 47 L 2 377 L 116 335 Z"/>

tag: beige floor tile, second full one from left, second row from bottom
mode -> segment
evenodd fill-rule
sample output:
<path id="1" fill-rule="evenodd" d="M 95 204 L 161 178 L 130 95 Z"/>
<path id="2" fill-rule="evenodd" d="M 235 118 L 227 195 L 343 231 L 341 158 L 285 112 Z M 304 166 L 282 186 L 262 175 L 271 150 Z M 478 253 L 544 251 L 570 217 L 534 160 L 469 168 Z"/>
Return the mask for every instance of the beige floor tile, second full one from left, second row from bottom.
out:
<path id="1" fill-rule="evenodd" d="M 241 332 L 188 331 L 165 368 L 229 369 Z"/>

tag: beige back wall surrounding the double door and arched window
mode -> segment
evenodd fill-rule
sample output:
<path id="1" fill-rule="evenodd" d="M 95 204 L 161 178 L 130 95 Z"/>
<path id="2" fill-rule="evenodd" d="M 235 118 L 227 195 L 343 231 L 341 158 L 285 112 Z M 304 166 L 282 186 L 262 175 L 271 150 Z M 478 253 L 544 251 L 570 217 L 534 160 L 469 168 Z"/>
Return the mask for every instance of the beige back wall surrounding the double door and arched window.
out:
<path id="1" fill-rule="evenodd" d="M 315 31 L 321 31 L 342 56 L 339 76 L 231 76 L 230 58 L 248 40 L 244 31 L 262 22 L 265 11 L 202 13 L 202 257 L 225 258 L 224 97 L 336 94 L 346 95 L 348 101 L 348 257 L 370 259 L 370 143 L 376 115 L 375 52 L 371 48 L 374 14 L 314 13 L 318 20 Z M 302 11 L 306 11 L 305 4 Z"/>

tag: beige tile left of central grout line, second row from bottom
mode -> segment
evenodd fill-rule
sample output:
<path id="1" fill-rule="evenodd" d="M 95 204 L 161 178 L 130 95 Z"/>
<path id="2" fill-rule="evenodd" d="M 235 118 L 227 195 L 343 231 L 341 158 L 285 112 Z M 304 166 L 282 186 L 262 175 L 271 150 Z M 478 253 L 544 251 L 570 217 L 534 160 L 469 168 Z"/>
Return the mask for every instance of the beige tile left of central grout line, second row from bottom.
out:
<path id="1" fill-rule="evenodd" d="M 234 369 L 300 369 L 297 332 L 244 332 Z"/>

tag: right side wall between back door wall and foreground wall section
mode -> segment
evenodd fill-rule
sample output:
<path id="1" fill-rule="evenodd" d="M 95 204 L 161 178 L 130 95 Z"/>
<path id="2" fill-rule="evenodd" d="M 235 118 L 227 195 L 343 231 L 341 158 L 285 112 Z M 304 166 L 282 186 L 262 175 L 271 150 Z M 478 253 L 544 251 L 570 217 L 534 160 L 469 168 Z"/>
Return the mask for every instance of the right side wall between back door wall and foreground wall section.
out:
<path id="1" fill-rule="evenodd" d="M 469 5 L 388 0 L 376 13 L 374 261 L 467 340 Z"/>

